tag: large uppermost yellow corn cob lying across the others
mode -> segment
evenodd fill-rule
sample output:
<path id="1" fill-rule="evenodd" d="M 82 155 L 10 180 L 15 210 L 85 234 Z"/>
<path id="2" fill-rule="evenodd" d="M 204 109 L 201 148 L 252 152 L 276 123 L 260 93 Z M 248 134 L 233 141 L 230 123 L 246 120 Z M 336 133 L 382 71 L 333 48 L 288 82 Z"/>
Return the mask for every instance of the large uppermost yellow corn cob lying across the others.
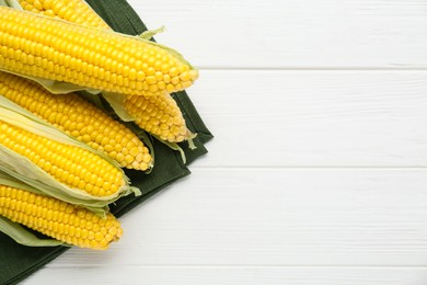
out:
<path id="1" fill-rule="evenodd" d="M 130 95 L 188 88 L 198 71 L 139 37 L 0 7 L 0 69 Z"/>

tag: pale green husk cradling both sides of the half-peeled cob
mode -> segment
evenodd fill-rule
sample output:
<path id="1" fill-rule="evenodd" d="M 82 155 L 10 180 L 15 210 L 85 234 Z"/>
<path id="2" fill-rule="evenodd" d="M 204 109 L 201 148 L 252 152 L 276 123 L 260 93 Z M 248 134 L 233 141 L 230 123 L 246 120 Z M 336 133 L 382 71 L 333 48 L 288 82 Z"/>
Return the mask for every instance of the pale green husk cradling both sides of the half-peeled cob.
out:
<path id="1" fill-rule="evenodd" d="M 97 213 L 104 212 L 104 208 L 108 204 L 115 202 L 120 196 L 128 195 L 130 193 L 135 193 L 136 195 L 140 194 L 140 191 L 137 187 L 129 185 L 129 179 L 125 175 L 116 161 L 112 160 L 105 153 L 96 151 L 85 144 L 60 132 L 31 112 L 5 99 L 4 96 L 0 96 L 0 119 L 51 140 L 86 149 L 104 158 L 123 173 L 124 186 L 116 194 L 111 196 L 97 197 L 90 195 L 81 190 L 71 189 L 60 183 L 50 174 L 31 162 L 27 158 L 0 145 L 1 171 L 23 181 L 24 183 L 27 183 L 33 187 L 38 189 L 41 192 L 47 195 L 71 204 L 84 206 Z"/>

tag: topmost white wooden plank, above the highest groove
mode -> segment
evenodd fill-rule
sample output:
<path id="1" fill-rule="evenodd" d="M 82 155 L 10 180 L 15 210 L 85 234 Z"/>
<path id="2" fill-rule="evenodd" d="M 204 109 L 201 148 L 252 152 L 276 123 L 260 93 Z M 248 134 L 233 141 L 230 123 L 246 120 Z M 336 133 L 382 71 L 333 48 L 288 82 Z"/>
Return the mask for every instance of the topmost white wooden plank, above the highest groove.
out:
<path id="1" fill-rule="evenodd" d="M 419 0 L 129 0 L 158 41 L 206 68 L 426 68 Z"/>

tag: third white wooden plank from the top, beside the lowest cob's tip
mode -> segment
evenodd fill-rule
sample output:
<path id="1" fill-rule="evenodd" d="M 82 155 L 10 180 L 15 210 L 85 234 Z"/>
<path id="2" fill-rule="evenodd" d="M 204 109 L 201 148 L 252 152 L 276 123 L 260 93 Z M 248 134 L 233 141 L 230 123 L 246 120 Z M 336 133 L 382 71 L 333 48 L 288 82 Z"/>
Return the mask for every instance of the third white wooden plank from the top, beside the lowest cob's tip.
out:
<path id="1" fill-rule="evenodd" d="M 51 266 L 425 266 L 426 185 L 427 170 L 195 168 L 108 251 Z"/>

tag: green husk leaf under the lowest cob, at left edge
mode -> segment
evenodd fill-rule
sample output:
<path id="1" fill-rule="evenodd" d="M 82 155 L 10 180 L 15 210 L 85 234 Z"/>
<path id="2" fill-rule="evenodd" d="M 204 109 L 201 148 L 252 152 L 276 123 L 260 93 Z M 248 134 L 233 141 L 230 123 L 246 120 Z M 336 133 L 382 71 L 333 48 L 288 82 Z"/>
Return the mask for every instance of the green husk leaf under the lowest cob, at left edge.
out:
<path id="1" fill-rule="evenodd" d="M 55 239 L 39 239 L 20 224 L 0 216 L 0 231 L 27 247 L 57 247 L 67 243 Z"/>

